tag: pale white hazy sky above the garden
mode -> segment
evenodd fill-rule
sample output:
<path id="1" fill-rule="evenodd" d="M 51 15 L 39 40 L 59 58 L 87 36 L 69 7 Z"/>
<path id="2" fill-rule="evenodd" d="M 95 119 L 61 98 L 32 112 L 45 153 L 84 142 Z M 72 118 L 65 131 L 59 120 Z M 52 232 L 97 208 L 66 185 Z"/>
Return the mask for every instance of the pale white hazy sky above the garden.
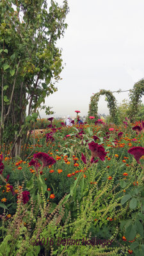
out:
<path id="1" fill-rule="evenodd" d="M 87 115 L 92 93 L 129 90 L 144 77 L 143 0 L 69 0 L 68 4 L 68 28 L 58 42 L 66 63 L 63 79 L 58 92 L 45 100 L 53 107 L 52 116 L 62 117 L 75 116 L 75 110 Z M 128 93 L 114 93 L 117 102 L 129 99 Z M 104 99 L 100 97 L 98 111 L 108 114 Z M 45 117 L 44 112 L 40 116 Z"/>

